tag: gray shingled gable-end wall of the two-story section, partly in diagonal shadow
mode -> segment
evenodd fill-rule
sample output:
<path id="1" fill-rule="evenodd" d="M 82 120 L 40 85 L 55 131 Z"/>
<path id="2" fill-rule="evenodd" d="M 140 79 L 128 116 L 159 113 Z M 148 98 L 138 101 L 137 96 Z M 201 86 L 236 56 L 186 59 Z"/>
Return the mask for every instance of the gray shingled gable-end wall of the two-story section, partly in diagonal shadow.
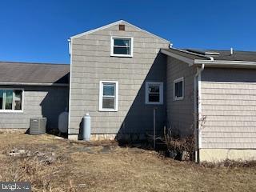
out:
<path id="1" fill-rule="evenodd" d="M 110 57 L 111 35 L 134 38 L 133 58 Z M 146 105 L 145 82 L 166 85 L 166 57 L 159 50 L 169 42 L 127 25 L 121 31 L 116 25 L 74 38 L 71 46 L 69 138 L 77 138 L 86 112 L 91 116 L 92 134 L 152 134 L 155 106 L 157 130 L 162 130 L 165 97 L 163 105 Z M 118 81 L 117 112 L 98 111 L 102 80 Z"/>

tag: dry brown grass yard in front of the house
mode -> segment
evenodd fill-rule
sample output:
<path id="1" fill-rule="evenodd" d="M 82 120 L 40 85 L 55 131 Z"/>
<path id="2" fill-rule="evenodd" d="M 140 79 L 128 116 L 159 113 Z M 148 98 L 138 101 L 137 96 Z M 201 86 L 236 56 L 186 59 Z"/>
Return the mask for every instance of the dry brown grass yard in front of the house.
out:
<path id="1" fill-rule="evenodd" d="M 255 191 L 255 167 L 200 166 L 114 142 L 69 142 L 51 135 L 0 134 L 0 181 L 29 181 L 33 191 Z M 10 150 L 30 157 L 10 157 Z M 42 162 L 38 152 L 53 155 Z"/>

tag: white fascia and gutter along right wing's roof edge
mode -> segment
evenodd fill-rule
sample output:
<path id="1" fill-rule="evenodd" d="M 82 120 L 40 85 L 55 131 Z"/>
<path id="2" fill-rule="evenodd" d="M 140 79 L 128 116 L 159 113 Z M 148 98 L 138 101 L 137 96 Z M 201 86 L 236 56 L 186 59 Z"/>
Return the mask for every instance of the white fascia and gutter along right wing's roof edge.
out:
<path id="1" fill-rule="evenodd" d="M 201 60 L 195 59 L 194 64 L 201 65 L 205 64 L 205 66 L 222 66 L 222 67 L 239 67 L 239 68 L 256 68 L 256 62 L 246 62 L 246 61 L 226 61 L 226 60 Z"/>

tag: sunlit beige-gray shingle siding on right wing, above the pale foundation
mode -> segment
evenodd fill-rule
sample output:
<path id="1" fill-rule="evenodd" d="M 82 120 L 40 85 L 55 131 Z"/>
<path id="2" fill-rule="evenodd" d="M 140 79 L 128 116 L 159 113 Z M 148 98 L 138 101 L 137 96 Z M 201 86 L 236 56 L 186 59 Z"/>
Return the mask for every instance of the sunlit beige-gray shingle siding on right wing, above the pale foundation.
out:
<path id="1" fill-rule="evenodd" d="M 256 148 L 256 70 L 202 72 L 202 148 Z"/>

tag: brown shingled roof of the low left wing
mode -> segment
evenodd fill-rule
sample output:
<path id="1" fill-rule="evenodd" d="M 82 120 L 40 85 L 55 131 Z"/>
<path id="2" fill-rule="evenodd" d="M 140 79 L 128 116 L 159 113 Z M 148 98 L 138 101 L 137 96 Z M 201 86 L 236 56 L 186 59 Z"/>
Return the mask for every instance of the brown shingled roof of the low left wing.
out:
<path id="1" fill-rule="evenodd" d="M 0 62 L 0 84 L 65 85 L 70 65 L 31 62 Z"/>

